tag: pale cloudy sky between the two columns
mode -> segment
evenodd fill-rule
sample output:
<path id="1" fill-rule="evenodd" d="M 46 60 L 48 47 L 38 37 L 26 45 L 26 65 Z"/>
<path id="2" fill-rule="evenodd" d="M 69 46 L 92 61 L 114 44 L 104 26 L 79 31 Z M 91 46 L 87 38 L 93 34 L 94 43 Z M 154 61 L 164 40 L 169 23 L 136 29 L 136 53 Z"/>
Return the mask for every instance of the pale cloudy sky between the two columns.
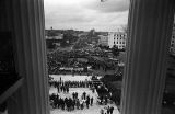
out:
<path id="1" fill-rule="evenodd" d="M 116 32 L 127 25 L 129 0 L 44 0 L 45 27 Z"/>

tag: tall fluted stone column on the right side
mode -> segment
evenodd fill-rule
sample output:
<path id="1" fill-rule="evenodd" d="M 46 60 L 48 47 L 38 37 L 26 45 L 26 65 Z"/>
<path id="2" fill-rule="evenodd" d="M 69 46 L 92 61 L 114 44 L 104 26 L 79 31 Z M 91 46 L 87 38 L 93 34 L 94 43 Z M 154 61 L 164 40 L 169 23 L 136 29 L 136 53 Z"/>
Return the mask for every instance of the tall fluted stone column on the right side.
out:
<path id="1" fill-rule="evenodd" d="M 121 114 L 161 114 L 174 0 L 131 0 Z"/>

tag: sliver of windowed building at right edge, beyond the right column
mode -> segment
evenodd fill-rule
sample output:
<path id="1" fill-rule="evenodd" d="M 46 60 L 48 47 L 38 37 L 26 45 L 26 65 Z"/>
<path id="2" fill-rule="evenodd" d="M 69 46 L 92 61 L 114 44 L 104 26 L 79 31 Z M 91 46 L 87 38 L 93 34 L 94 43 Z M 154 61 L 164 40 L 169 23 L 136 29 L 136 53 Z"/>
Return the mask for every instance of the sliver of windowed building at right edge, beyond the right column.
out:
<path id="1" fill-rule="evenodd" d="M 175 15 L 174 15 L 174 23 L 173 23 L 173 32 L 172 32 L 170 52 L 171 52 L 172 55 L 175 55 Z"/>

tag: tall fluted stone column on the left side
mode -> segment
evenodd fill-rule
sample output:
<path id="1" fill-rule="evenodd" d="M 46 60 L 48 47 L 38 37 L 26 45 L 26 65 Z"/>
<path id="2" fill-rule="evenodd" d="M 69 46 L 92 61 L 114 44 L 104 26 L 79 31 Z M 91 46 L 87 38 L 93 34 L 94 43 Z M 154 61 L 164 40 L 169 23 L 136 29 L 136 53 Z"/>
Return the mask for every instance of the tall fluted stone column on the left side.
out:
<path id="1" fill-rule="evenodd" d="M 8 102 L 9 114 L 49 114 L 43 0 L 11 0 L 15 64 L 23 86 Z"/>

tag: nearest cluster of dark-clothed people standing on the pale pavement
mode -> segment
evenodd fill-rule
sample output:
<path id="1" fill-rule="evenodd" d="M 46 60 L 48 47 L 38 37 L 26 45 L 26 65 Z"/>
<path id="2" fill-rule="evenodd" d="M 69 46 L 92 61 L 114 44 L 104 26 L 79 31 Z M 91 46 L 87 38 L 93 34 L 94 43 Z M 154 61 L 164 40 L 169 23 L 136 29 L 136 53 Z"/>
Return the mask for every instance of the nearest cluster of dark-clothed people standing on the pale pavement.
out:
<path id="1" fill-rule="evenodd" d="M 86 92 L 83 92 L 81 95 L 81 99 L 78 98 L 78 92 L 72 93 L 72 98 L 60 98 L 58 94 L 52 93 L 49 96 L 50 103 L 52 109 L 61 109 L 67 111 L 73 111 L 73 110 L 83 110 L 85 106 L 86 109 L 90 107 L 90 105 L 93 105 L 93 96 L 90 96 L 86 94 Z"/>

